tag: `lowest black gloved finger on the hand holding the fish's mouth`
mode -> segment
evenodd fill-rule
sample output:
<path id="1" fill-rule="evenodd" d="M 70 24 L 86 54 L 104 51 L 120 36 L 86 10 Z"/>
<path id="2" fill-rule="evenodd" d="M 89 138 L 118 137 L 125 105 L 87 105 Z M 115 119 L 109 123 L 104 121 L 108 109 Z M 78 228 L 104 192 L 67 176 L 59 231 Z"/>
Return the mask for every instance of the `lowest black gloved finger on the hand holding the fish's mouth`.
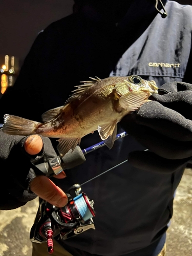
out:
<path id="1" fill-rule="evenodd" d="M 128 155 L 128 161 L 134 167 L 164 174 L 174 173 L 178 168 L 185 167 L 189 160 L 190 158 L 170 160 L 150 151 L 134 151 Z"/>

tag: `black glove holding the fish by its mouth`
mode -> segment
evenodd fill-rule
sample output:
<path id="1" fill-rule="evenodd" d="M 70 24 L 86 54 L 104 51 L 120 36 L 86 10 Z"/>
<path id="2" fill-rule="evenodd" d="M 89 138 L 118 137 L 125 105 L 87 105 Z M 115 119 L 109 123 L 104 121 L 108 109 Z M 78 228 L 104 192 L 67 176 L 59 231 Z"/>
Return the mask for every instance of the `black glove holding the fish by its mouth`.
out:
<path id="1" fill-rule="evenodd" d="M 131 152 L 135 167 L 172 173 L 192 156 L 192 84 L 169 82 L 133 114 L 120 122 L 148 151 Z"/>

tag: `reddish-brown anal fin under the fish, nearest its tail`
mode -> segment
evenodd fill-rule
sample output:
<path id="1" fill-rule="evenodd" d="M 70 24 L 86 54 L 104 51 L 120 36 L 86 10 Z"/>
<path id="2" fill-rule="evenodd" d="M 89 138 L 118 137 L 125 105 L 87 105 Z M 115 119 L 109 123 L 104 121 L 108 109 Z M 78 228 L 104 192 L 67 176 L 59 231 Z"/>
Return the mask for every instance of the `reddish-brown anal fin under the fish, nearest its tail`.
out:
<path id="1" fill-rule="evenodd" d="M 76 145 L 80 143 L 80 139 L 59 139 L 58 141 L 57 150 L 61 158 L 65 156 L 69 150 L 73 152 Z"/>

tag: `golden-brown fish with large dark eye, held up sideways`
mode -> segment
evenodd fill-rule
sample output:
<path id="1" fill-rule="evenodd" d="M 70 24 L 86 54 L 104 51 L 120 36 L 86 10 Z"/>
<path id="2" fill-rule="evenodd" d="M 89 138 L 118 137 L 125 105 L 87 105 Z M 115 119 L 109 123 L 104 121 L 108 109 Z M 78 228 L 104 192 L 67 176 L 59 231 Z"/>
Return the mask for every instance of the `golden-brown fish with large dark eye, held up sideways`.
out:
<path id="1" fill-rule="evenodd" d="M 90 77 L 81 81 L 64 105 L 42 114 L 42 122 L 5 114 L 2 131 L 9 135 L 38 134 L 57 138 L 57 150 L 64 156 L 80 144 L 81 138 L 98 131 L 110 149 L 117 135 L 117 123 L 158 93 L 154 80 L 140 76 Z M 77 88 L 77 89 L 76 89 Z"/>

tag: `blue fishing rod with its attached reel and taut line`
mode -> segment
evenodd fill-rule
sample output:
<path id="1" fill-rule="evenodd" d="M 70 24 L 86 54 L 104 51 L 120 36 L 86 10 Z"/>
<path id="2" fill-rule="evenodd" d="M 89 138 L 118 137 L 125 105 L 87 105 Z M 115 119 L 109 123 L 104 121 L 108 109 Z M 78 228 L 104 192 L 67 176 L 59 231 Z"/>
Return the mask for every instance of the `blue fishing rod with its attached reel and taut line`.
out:
<path id="1" fill-rule="evenodd" d="M 128 134 L 126 132 L 117 134 L 116 140 L 123 138 L 127 135 Z M 73 152 L 72 154 L 71 152 L 67 153 L 67 157 L 66 155 L 62 157 L 62 162 L 67 168 L 71 168 L 71 162 L 73 163 L 73 165 L 75 162 L 75 167 L 79 165 L 80 162 L 84 162 L 86 160 L 84 155 L 95 151 L 103 146 L 105 146 L 104 141 L 84 148 L 83 150 L 81 150 L 79 146 L 76 146 L 76 149 L 74 151 L 77 152 Z M 69 188 L 69 193 L 66 194 L 68 197 L 68 204 L 64 207 L 56 207 L 41 199 L 35 222 L 31 228 L 30 240 L 34 243 L 46 242 L 48 252 L 52 254 L 54 251 L 53 238 L 56 240 L 66 240 L 71 237 L 77 236 L 77 234 L 80 234 L 90 228 L 95 229 L 92 219 L 93 217 L 95 217 L 95 210 L 93 207 L 94 201 L 89 199 L 88 196 L 81 191 L 81 186 L 98 178 L 99 176 L 109 172 L 110 170 L 125 162 L 127 162 L 127 160 L 115 165 L 114 167 L 106 170 L 100 175 L 97 175 L 94 178 L 83 182 L 82 184 L 74 184 L 73 186 L 71 186 Z"/>

